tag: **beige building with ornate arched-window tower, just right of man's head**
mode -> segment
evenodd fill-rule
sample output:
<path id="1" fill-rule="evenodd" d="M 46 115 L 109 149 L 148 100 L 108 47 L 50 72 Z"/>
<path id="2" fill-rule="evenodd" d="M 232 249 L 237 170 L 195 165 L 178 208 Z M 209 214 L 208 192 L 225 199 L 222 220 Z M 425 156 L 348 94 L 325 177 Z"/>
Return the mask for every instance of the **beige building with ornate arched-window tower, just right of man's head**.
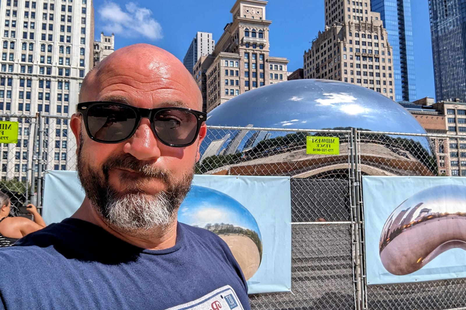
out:
<path id="1" fill-rule="evenodd" d="M 203 91 L 206 111 L 248 90 L 287 80 L 288 59 L 270 57 L 267 1 L 237 0 L 213 53 L 194 65 L 193 76 Z M 204 77 L 204 78 L 203 78 Z"/>

